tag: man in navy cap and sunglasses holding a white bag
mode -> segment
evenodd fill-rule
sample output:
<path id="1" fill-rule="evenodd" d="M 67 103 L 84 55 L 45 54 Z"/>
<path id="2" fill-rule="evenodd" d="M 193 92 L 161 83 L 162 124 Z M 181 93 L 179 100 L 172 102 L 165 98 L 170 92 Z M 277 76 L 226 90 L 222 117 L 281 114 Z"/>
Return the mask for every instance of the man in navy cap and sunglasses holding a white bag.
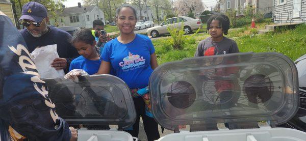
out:
<path id="1" fill-rule="evenodd" d="M 69 42 L 71 35 L 56 27 L 47 26 L 47 10 L 36 2 L 23 5 L 19 21 L 26 27 L 20 33 L 30 53 L 37 47 L 56 44 L 59 58 L 55 59 L 51 66 L 57 70 L 63 69 L 67 73 L 70 62 L 79 56 L 78 51 Z"/>

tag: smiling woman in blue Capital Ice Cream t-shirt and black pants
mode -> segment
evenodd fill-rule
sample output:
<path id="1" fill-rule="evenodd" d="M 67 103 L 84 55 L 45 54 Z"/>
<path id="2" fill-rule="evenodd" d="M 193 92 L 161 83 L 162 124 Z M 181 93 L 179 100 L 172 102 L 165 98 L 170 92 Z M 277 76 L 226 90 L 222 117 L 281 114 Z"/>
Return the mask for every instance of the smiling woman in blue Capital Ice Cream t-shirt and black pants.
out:
<path id="1" fill-rule="evenodd" d="M 120 30 L 120 36 L 107 42 L 104 46 L 101 54 L 101 65 L 97 73 L 109 74 L 112 72 L 113 75 L 121 78 L 130 87 L 137 111 L 137 119 L 133 129 L 126 131 L 137 137 L 141 116 L 148 140 L 158 139 L 160 137 L 158 125 L 152 118 L 151 113 L 146 111 L 146 108 L 150 108 L 150 104 L 147 103 L 148 100 L 144 101 L 138 95 L 140 94 L 139 89 L 148 86 L 149 77 L 158 66 L 154 46 L 147 36 L 134 33 L 137 22 L 134 8 L 124 6 L 118 9 L 116 22 Z M 145 98 L 148 98 L 148 92 L 145 93 Z"/>

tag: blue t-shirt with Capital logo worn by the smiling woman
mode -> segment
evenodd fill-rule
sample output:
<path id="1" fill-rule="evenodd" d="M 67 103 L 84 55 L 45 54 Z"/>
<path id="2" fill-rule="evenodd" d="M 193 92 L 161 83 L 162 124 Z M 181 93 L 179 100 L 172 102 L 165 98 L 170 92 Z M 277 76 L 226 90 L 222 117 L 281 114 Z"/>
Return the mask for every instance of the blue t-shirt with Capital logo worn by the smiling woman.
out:
<path id="1" fill-rule="evenodd" d="M 136 34 L 131 43 L 122 44 L 118 39 L 107 42 L 101 58 L 111 63 L 111 72 L 121 78 L 130 89 L 141 89 L 148 86 L 153 72 L 150 62 L 155 48 L 151 40 L 144 35 Z"/>

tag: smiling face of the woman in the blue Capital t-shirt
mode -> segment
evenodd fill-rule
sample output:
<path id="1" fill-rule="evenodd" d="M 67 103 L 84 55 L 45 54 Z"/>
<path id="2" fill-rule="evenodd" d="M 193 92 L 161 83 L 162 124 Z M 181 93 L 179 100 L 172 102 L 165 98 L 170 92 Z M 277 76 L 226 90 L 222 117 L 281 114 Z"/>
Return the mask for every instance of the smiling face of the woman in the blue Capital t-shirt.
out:
<path id="1" fill-rule="evenodd" d="M 137 19 L 135 13 L 129 7 L 123 7 L 117 16 L 117 26 L 121 34 L 132 34 L 136 25 Z"/>

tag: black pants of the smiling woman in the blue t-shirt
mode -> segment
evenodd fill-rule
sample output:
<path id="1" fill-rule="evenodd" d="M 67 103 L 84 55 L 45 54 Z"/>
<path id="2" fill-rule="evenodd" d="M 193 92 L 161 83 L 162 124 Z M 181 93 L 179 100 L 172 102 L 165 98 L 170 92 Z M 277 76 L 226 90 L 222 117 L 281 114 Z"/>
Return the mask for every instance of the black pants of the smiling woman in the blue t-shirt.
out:
<path id="1" fill-rule="evenodd" d="M 130 133 L 134 137 L 138 137 L 139 120 L 141 116 L 143 121 L 144 131 L 148 138 L 148 141 L 159 139 L 160 135 L 158 132 L 158 124 L 156 123 L 154 118 L 145 115 L 145 103 L 143 99 L 139 97 L 139 98 L 133 98 L 133 100 L 137 113 L 136 122 L 133 125 L 133 130 L 124 130 L 124 131 Z"/>

